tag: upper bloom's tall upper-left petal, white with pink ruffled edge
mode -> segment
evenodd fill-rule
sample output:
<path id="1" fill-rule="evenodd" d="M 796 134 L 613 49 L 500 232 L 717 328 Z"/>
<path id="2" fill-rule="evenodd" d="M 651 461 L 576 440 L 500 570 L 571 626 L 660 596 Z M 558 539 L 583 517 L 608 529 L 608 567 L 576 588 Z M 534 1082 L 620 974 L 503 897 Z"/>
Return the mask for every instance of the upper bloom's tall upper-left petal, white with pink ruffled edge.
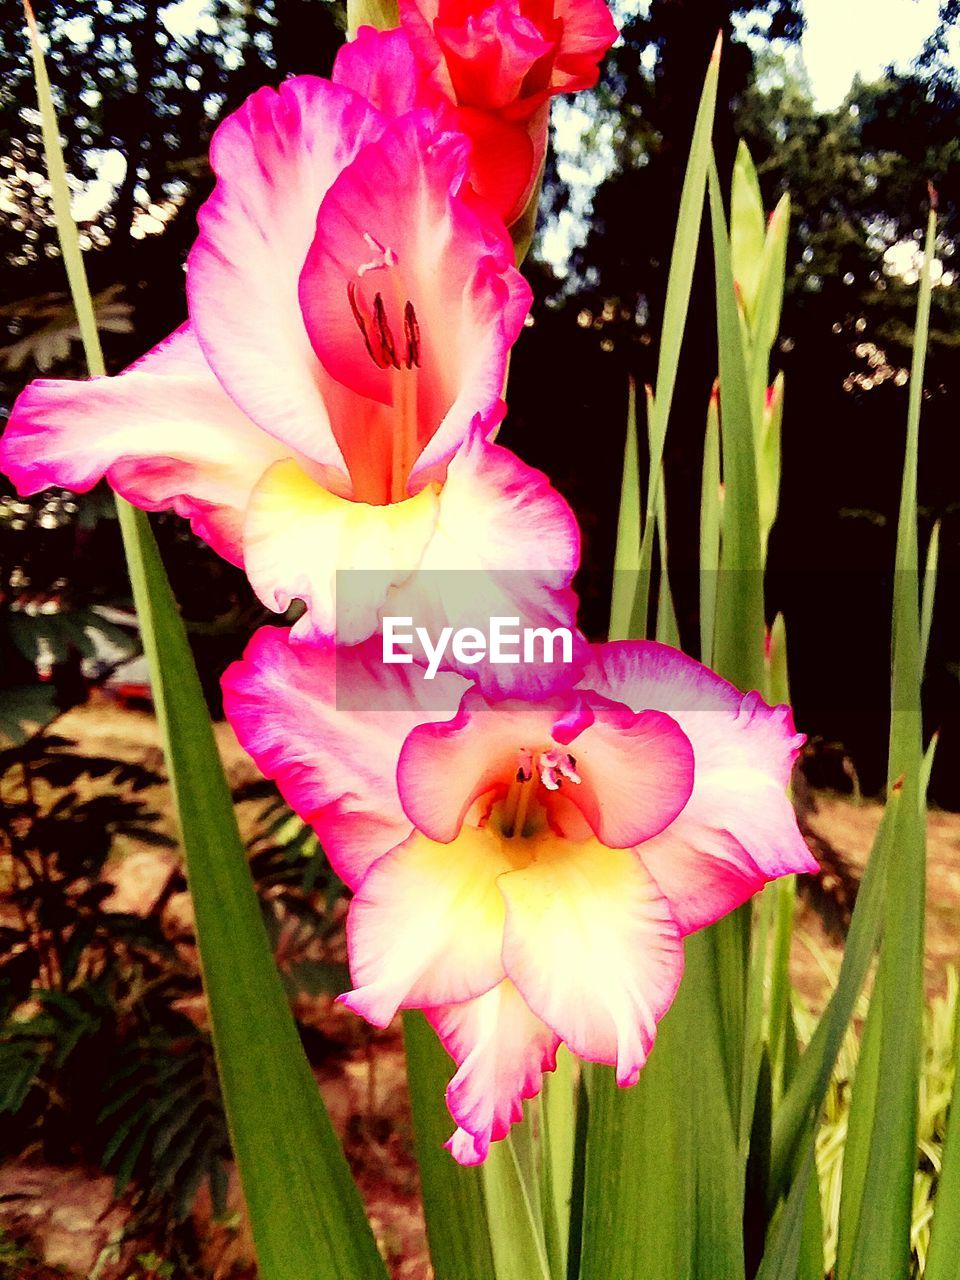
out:
<path id="1" fill-rule="evenodd" d="M 259 90 L 214 134 L 218 182 L 188 260 L 191 319 L 216 376 L 264 430 L 323 466 L 343 463 L 297 282 L 325 192 L 381 128 L 357 93 L 314 76 Z"/>

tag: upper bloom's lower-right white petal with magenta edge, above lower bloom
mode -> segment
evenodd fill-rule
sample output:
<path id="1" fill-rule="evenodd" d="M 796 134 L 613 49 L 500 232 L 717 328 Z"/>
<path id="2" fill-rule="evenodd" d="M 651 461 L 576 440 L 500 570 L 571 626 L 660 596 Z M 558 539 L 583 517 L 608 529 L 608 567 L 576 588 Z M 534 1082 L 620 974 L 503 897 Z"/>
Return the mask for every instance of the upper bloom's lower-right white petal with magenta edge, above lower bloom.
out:
<path id="1" fill-rule="evenodd" d="M 570 586 L 579 559 L 576 517 L 547 476 L 476 429 L 447 470 L 436 529 L 390 612 L 413 617 L 434 639 L 445 626 L 486 635 L 498 617 L 566 630 L 570 644 L 552 644 L 552 660 L 540 641 L 529 662 L 451 659 L 490 696 L 543 696 L 575 684 L 586 655 Z"/>

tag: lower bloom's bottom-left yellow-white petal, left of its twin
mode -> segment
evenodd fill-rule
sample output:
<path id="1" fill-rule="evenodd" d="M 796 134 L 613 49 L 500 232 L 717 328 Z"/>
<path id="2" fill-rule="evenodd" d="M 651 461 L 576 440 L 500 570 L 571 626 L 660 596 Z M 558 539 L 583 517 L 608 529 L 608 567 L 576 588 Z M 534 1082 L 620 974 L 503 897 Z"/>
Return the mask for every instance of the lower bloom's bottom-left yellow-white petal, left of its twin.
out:
<path id="1" fill-rule="evenodd" d="M 367 872 L 349 905 L 355 989 L 340 1001 L 375 1027 L 397 1010 L 457 1004 L 503 978 L 503 899 L 511 863 L 493 832 L 465 827 L 452 845 L 420 832 Z"/>

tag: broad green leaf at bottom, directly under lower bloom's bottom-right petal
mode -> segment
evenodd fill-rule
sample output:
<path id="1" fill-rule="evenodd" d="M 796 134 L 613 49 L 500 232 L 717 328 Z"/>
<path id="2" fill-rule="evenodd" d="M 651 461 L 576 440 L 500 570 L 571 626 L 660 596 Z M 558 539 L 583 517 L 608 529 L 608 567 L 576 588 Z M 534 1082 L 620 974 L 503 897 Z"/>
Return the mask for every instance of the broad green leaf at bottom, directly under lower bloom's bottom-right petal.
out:
<path id="1" fill-rule="evenodd" d="M 710 931 L 630 1089 L 589 1069 L 580 1280 L 744 1280 L 742 1169 L 721 1053 Z"/>

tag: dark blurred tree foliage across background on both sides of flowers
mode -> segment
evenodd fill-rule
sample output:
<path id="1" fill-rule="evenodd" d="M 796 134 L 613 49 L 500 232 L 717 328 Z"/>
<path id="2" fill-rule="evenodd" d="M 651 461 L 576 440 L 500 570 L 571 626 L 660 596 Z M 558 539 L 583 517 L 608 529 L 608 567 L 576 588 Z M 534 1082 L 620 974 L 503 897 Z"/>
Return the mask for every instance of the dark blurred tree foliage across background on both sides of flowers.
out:
<path id="1" fill-rule="evenodd" d="M 783 494 L 771 547 L 771 616 L 791 635 L 801 727 L 882 785 L 895 512 L 919 236 L 936 186 L 942 275 L 934 291 L 920 476 L 923 532 L 941 531 L 927 680 L 943 730 L 932 786 L 960 806 L 960 84 L 946 56 L 960 5 L 906 72 L 855 82 L 820 110 L 796 52 L 801 0 L 649 0 L 618 9 L 622 44 L 600 91 L 554 115 L 557 147 L 527 271 L 532 323 L 513 362 L 503 439 L 549 471 L 584 527 L 584 621 L 605 626 L 627 375 L 653 376 L 668 248 L 703 68 L 727 49 L 717 147 L 730 170 L 750 145 L 764 204 L 790 192 L 790 278 L 776 364 L 786 372 Z M 261 83 L 326 73 L 343 38 L 330 0 L 46 0 L 76 212 L 108 361 L 119 370 L 184 317 L 183 261 L 210 189 L 215 122 Z M 0 14 L 0 413 L 29 378 L 81 370 L 64 296 L 18 6 Z M 705 408 L 717 367 L 709 253 L 695 283 L 667 438 L 671 571 L 684 635 L 696 628 L 696 522 Z M 0 495 L 3 483 L 0 481 Z M 241 573 L 175 517 L 157 532 L 192 625 L 211 701 L 261 611 Z M 824 576 L 826 573 L 826 576 Z M 826 585 L 824 585 L 826 584 Z M 0 680 L 60 705 L 116 657 L 109 632 L 125 580 L 101 495 L 0 497 Z M 110 622 L 110 618 L 114 621 Z M 123 623 L 123 616 L 120 616 Z M 0 724 L 0 732 L 4 731 Z M 832 759 L 827 753 L 827 759 Z M 842 753 L 838 754 L 842 759 Z M 838 780 L 828 777 L 824 781 Z M 845 781 L 845 780 L 841 780 Z"/>

